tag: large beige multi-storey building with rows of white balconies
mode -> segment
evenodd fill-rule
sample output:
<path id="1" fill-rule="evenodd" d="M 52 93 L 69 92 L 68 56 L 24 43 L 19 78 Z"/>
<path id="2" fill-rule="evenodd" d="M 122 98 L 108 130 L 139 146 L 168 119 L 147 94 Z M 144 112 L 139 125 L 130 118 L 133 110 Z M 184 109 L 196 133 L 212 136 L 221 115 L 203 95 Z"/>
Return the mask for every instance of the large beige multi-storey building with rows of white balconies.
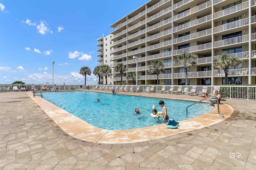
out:
<path id="1" fill-rule="evenodd" d="M 157 75 L 148 72 L 155 59 L 164 62 L 161 85 L 185 84 L 184 68 L 173 66 L 183 52 L 198 56 L 188 68 L 188 85 L 224 84 L 224 70 L 213 70 L 222 53 L 242 61 L 228 70 L 229 84 L 256 84 L 255 0 L 150 0 L 111 27 L 110 66 L 126 66 L 127 84 L 126 74 L 136 69 L 138 84 L 156 84 Z M 112 73 L 118 84 L 120 76 Z"/>

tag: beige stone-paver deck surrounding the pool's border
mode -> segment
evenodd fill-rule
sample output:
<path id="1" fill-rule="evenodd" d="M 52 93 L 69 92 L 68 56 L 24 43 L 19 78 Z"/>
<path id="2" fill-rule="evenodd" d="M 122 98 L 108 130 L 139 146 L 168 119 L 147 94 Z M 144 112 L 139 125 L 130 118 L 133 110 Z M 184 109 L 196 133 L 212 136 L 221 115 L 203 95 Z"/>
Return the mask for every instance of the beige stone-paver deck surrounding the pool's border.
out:
<path id="1" fill-rule="evenodd" d="M 227 104 L 228 109 L 232 107 L 232 115 L 224 115 L 228 118 L 201 129 L 134 143 L 100 143 L 100 140 L 93 143 L 68 135 L 26 93 L 31 94 L 0 93 L 0 169 L 256 167 L 256 102 L 252 100 L 227 99 L 222 103 Z M 163 99 L 201 99 L 198 96 L 153 95 Z M 224 104 L 220 108 L 222 106 Z"/>

